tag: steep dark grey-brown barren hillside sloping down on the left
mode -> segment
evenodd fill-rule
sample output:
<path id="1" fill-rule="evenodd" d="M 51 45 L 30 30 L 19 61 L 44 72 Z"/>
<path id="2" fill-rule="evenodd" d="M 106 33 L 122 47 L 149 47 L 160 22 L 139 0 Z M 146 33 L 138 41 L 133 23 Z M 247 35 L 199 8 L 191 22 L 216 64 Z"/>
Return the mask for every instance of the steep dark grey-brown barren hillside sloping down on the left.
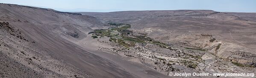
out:
<path id="1" fill-rule="evenodd" d="M 104 26 L 88 15 L 0 4 L 0 77 L 134 77 L 72 43 Z"/>

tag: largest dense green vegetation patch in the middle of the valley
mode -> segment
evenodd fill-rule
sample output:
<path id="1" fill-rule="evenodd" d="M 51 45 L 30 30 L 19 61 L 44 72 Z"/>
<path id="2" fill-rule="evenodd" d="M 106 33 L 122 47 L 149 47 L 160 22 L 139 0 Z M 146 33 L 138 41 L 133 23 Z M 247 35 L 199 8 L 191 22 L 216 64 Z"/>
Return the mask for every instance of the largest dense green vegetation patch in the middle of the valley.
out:
<path id="1" fill-rule="evenodd" d="M 124 24 L 124 23 L 109 23 L 109 25 L 115 25 L 116 27 L 112 27 L 109 29 L 98 29 L 94 30 L 88 34 L 92 34 L 93 38 L 97 38 L 97 36 L 103 37 L 108 36 L 110 37 L 109 41 L 116 42 L 119 45 L 122 45 L 124 47 L 133 47 L 135 46 L 135 43 L 152 43 L 159 46 L 166 45 L 162 42 L 156 42 L 154 39 L 151 39 L 149 37 L 146 37 L 147 34 L 144 34 L 143 36 L 135 36 L 132 34 L 132 31 L 129 31 L 128 29 L 131 28 L 130 24 Z M 132 34 L 132 35 L 130 35 Z"/>

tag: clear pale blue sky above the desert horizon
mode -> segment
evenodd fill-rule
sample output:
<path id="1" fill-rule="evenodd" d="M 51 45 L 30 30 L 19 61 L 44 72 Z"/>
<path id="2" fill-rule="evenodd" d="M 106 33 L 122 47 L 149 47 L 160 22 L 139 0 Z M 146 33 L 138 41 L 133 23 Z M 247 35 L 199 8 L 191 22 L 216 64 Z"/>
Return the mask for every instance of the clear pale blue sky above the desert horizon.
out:
<path id="1" fill-rule="evenodd" d="M 0 0 L 0 3 L 52 8 L 67 12 L 140 10 L 256 12 L 256 0 Z"/>

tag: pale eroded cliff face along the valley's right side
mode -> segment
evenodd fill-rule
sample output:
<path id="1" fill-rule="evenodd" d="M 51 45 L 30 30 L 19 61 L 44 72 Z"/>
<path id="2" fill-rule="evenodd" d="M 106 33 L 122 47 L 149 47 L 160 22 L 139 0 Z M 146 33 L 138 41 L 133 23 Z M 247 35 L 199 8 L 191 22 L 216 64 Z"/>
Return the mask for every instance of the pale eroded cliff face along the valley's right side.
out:
<path id="1" fill-rule="evenodd" d="M 156 35 L 152 33 L 149 36 L 154 37 Z M 154 38 L 178 47 L 209 51 L 226 61 L 238 62 L 249 66 L 255 66 L 256 63 L 254 49 L 225 41 L 209 33 L 162 35 Z"/>

